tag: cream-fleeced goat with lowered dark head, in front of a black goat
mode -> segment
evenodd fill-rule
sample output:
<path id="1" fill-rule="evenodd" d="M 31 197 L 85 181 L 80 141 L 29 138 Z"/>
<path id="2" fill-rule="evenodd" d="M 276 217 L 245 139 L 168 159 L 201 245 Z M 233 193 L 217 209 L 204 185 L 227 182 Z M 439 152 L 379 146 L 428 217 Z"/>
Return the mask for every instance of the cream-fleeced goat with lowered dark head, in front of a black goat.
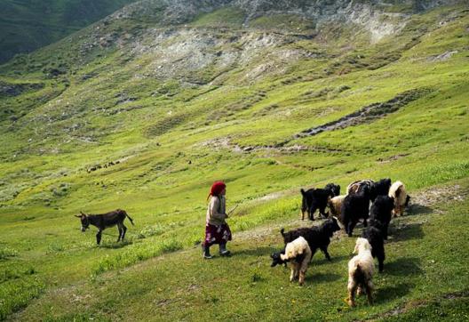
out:
<path id="1" fill-rule="evenodd" d="M 298 256 L 300 259 L 298 260 Z M 311 248 L 304 237 L 298 237 L 285 246 L 285 254 L 281 254 L 283 261 L 290 261 L 290 282 L 298 278 L 298 284 L 305 283 L 307 265 L 311 261 Z"/>

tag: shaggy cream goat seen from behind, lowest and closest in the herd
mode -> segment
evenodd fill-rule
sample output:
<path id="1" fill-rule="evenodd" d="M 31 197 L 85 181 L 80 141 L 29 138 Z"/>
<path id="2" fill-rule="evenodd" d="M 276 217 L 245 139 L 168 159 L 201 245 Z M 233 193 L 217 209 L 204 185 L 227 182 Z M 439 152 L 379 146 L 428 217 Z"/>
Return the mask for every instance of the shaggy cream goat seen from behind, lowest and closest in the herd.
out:
<path id="1" fill-rule="evenodd" d="M 373 272 L 375 265 L 373 256 L 371 256 L 371 246 L 366 238 L 357 238 L 354 254 L 357 254 L 348 262 L 348 305 L 355 305 L 355 293 L 358 289 L 359 294 L 362 289 L 366 290 L 368 302 L 373 302 Z"/>

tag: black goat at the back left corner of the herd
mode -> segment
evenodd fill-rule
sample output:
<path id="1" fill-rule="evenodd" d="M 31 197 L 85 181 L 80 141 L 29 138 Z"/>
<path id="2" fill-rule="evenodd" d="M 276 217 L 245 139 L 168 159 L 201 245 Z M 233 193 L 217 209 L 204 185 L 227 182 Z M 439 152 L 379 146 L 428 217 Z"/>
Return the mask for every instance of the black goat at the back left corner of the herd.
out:
<path id="1" fill-rule="evenodd" d="M 340 190 L 340 187 L 338 187 Z M 337 189 L 335 189 L 337 190 Z M 310 220 L 314 221 L 314 213 L 319 209 L 323 218 L 329 217 L 329 213 L 325 213 L 329 199 L 335 196 L 335 192 L 330 189 L 300 189 L 303 199 L 301 201 L 301 220 L 305 220 L 305 213 Z"/>

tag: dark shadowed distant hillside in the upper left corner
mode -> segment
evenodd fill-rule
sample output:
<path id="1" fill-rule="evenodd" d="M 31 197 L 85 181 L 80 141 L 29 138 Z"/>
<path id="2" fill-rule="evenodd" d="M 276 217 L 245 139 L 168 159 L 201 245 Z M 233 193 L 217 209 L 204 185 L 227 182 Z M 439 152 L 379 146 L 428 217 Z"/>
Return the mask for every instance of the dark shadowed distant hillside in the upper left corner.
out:
<path id="1" fill-rule="evenodd" d="M 52 44 L 131 2 L 4 0 L 0 4 L 0 62 Z"/>

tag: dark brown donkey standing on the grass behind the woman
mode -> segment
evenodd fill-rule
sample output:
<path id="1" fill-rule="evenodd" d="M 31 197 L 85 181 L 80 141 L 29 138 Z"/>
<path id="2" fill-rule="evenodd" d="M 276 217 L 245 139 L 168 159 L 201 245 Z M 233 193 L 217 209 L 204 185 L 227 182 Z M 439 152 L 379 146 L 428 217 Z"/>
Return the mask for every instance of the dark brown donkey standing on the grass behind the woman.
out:
<path id="1" fill-rule="evenodd" d="M 123 240 L 125 236 L 125 231 L 127 231 L 127 227 L 123 225 L 123 220 L 125 217 L 129 218 L 131 224 L 133 226 L 133 221 L 131 216 L 125 213 L 125 210 L 117 209 L 115 211 L 109 213 L 101 213 L 101 214 L 85 214 L 80 212 L 79 215 L 75 215 L 76 217 L 80 218 L 82 221 L 82 232 L 85 232 L 86 229 L 90 228 L 90 224 L 96 226 L 99 231 L 96 234 L 96 242 L 101 242 L 101 233 L 107 227 L 113 227 L 117 225 L 117 229 L 119 229 L 119 237 L 117 238 L 117 242 Z"/>

